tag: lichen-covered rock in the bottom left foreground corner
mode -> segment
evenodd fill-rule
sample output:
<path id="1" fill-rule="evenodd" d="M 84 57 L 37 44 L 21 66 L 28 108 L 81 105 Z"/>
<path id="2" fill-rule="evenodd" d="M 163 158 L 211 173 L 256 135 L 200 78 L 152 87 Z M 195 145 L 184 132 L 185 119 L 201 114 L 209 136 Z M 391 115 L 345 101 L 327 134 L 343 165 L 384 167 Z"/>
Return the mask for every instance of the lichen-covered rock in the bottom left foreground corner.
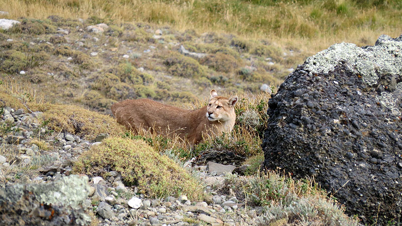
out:
<path id="1" fill-rule="evenodd" d="M 88 225 L 88 177 L 53 183 L 15 184 L 0 189 L 0 225 Z"/>

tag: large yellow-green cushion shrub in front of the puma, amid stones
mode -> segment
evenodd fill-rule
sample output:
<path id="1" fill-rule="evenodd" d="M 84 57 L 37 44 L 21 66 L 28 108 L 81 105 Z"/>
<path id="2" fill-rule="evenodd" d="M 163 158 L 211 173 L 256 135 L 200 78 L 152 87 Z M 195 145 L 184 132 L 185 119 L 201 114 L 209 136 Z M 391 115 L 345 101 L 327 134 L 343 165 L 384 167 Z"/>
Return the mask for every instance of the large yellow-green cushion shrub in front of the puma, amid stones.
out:
<path id="1" fill-rule="evenodd" d="M 73 166 L 77 173 L 104 177 L 107 169 L 120 172 L 126 186 L 138 186 L 149 197 L 185 194 L 196 201 L 204 196 L 199 181 L 142 140 L 105 139 L 84 152 Z"/>

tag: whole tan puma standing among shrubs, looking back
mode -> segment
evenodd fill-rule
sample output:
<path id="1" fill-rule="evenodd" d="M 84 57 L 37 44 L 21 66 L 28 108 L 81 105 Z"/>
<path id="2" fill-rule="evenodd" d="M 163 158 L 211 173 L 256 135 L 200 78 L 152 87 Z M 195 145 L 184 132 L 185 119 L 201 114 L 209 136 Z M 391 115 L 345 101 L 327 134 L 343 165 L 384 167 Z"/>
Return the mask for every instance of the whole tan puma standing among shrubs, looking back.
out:
<path id="1" fill-rule="evenodd" d="M 186 110 L 150 99 L 128 99 L 113 104 L 112 112 L 118 123 L 134 132 L 143 128 L 162 135 L 176 134 L 193 146 L 207 134 L 214 136 L 232 131 L 236 121 L 234 105 L 237 99 L 237 96 L 229 99 L 218 96 L 213 89 L 209 104 L 196 110 Z"/>

